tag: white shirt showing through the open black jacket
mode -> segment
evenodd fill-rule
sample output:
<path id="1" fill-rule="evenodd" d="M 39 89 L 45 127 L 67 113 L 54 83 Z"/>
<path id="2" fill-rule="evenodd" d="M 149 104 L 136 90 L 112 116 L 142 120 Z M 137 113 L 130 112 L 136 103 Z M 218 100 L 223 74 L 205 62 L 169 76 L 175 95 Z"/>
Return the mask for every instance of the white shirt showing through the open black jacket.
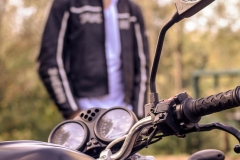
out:
<path id="1" fill-rule="evenodd" d="M 112 0 L 109 6 L 104 9 L 105 51 L 107 59 L 109 93 L 103 96 L 79 98 L 78 103 L 82 109 L 88 109 L 96 106 L 101 108 L 130 106 L 124 101 L 117 2 L 118 0 Z"/>

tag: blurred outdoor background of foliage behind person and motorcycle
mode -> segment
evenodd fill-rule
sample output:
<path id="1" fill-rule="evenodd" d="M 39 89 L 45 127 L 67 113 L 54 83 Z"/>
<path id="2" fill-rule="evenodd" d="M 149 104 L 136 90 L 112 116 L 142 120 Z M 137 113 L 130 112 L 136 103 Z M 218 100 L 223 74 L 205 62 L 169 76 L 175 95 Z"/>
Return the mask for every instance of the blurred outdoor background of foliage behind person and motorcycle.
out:
<path id="1" fill-rule="evenodd" d="M 174 0 L 135 0 L 142 7 L 151 62 L 159 32 L 175 13 Z M 51 0 L 0 0 L 0 141 L 47 141 L 62 121 L 36 72 L 36 57 Z M 194 98 L 240 84 L 240 0 L 217 0 L 172 27 L 157 75 L 159 99 L 187 91 Z M 240 128 L 240 110 L 204 117 Z M 143 154 L 191 154 L 215 148 L 232 153 L 237 141 L 220 131 L 165 138 Z"/>

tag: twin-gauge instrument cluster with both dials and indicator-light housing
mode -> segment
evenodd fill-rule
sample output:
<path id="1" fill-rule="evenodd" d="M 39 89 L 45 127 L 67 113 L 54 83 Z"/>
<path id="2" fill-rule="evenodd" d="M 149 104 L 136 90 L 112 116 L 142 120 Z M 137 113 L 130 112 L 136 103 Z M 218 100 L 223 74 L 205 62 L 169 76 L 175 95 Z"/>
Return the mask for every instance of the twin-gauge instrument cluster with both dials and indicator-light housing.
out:
<path id="1" fill-rule="evenodd" d="M 136 122 L 135 114 L 127 108 L 92 108 L 57 125 L 48 142 L 81 152 L 96 152 L 127 134 Z"/>

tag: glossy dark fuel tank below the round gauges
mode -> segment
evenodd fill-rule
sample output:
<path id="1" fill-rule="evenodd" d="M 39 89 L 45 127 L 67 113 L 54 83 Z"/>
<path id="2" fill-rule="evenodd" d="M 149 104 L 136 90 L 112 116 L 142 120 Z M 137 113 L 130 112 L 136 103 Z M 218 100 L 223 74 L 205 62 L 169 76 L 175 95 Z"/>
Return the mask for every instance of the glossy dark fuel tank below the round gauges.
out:
<path id="1" fill-rule="evenodd" d="M 60 145 L 32 140 L 0 142 L 0 157 L 6 160 L 94 160 Z"/>

